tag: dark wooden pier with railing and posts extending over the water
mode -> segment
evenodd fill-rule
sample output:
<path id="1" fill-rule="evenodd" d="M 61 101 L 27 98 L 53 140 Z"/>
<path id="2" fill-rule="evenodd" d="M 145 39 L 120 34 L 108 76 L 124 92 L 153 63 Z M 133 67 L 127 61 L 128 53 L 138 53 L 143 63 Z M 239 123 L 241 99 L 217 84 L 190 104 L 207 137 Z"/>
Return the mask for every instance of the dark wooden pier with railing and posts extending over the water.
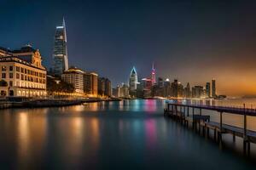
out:
<path id="1" fill-rule="evenodd" d="M 190 112 L 192 110 L 192 112 Z M 195 110 L 199 113 L 195 114 Z M 215 111 L 219 114 L 219 122 L 212 122 L 210 116 L 202 115 L 202 111 Z M 198 112 L 197 111 L 197 112 Z M 235 127 L 230 124 L 224 124 L 224 113 L 235 114 L 243 116 L 243 127 Z M 192 128 L 207 135 L 209 137 L 209 131 L 212 130 L 214 139 L 222 144 L 222 135 L 224 133 L 230 133 L 233 135 L 233 140 L 236 137 L 243 139 L 243 151 L 245 154 L 250 154 L 250 143 L 256 144 L 256 132 L 247 129 L 247 116 L 256 116 L 256 110 L 246 108 L 243 105 L 242 108 L 238 107 L 226 107 L 226 106 L 212 106 L 212 105 L 183 105 L 178 103 L 166 103 L 166 109 L 164 115 L 172 117 L 173 119 L 183 123 L 184 126 L 189 127 L 189 123 Z"/>

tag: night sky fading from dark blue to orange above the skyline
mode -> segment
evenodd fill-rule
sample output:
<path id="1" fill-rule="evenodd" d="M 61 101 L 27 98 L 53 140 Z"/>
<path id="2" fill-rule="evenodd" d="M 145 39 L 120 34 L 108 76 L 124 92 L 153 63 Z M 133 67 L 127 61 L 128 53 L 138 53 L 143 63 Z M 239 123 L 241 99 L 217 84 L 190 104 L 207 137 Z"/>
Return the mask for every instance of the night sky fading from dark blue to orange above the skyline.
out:
<path id="1" fill-rule="evenodd" d="M 212 3 L 210 3 L 212 2 Z M 0 46 L 39 48 L 48 68 L 55 26 L 67 24 L 69 65 L 97 71 L 113 86 L 133 65 L 205 85 L 218 94 L 256 94 L 256 1 L 0 0 Z"/>

